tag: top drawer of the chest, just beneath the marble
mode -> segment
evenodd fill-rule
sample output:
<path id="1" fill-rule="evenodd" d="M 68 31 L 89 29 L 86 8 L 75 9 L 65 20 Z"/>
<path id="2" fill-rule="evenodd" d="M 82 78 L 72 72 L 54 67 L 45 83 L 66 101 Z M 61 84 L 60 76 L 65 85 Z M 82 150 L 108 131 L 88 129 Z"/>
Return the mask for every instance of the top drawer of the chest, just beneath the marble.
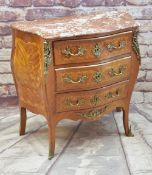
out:
<path id="1" fill-rule="evenodd" d="M 106 37 L 54 42 L 55 65 L 93 62 L 130 53 L 132 31 Z"/>

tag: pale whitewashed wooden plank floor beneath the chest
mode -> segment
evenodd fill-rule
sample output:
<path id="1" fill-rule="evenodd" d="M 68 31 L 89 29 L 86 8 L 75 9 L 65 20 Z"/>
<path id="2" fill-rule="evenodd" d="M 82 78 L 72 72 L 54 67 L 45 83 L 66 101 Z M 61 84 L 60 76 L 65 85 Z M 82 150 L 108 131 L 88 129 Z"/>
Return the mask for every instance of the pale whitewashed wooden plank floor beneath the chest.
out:
<path id="1" fill-rule="evenodd" d="M 129 116 L 134 137 L 124 135 L 122 112 L 61 121 L 48 160 L 44 117 L 28 112 L 26 135 L 19 136 L 18 108 L 0 108 L 0 175 L 152 175 L 152 105 L 133 105 Z"/>

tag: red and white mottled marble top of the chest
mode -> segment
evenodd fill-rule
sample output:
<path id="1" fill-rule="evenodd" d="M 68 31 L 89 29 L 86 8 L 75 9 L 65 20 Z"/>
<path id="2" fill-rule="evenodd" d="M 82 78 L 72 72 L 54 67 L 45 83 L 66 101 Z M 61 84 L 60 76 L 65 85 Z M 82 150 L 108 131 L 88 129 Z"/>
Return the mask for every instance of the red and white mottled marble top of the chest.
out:
<path id="1" fill-rule="evenodd" d="M 39 35 L 43 38 L 63 38 L 97 33 L 108 33 L 138 27 L 127 12 L 90 13 L 12 24 L 12 28 Z"/>

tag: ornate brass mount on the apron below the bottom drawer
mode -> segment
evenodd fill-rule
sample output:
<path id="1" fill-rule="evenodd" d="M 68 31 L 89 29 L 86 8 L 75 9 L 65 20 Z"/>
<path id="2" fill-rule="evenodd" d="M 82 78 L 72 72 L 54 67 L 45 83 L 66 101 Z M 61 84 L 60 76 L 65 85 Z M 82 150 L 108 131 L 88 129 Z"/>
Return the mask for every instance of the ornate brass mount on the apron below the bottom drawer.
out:
<path id="1" fill-rule="evenodd" d="M 85 118 L 96 118 L 100 117 L 102 113 L 106 112 L 108 106 L 105 106 L 101 109 L 93 109 L 91 111 L 85 112 L 85 113 L 80 113 L 80 116 L 85 117 Z"/>

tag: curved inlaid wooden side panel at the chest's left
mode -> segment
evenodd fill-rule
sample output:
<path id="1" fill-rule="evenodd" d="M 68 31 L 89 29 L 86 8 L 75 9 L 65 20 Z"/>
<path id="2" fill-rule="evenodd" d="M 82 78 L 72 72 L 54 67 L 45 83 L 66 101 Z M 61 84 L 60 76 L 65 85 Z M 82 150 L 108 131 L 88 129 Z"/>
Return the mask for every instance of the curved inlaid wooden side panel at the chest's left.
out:
<path id="1" fill-rule="evenodd" d="M 29 35 L 29 34 L 28 34 Z M 45 114 L 43 46 L 37 36 L 16 32 L 12 69 L 20 106 Z"/>

